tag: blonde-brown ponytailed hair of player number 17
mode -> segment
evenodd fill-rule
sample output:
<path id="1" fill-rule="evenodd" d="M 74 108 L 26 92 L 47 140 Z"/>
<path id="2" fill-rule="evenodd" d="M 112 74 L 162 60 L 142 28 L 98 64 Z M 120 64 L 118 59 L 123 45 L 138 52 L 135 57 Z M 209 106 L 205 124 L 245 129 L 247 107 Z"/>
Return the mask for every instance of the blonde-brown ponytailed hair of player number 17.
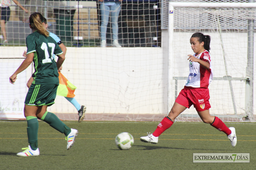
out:
<path id="1" fill-rule="evenodd" d="M 49 32 L 44 28 L 43 22 L 44 22 L 44 17 L 39 12 L 35 12 L 31 14 L 29 17 L 29 23 L 32 29 L 35 29 L 40 34 L 46 37 L 49 37 Z"/>

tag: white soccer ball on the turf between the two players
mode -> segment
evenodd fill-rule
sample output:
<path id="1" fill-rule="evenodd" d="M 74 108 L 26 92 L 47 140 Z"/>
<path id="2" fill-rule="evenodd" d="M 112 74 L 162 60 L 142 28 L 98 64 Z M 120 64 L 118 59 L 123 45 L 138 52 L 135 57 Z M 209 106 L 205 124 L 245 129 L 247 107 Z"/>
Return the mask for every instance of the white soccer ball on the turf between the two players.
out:
<path id="1" fill-rule="evenodd" d="M 116 136 L 116 146 L 121 150 L 130 149 L 133 143 L 134 139 L 128 132 L 122 132 Z"/>

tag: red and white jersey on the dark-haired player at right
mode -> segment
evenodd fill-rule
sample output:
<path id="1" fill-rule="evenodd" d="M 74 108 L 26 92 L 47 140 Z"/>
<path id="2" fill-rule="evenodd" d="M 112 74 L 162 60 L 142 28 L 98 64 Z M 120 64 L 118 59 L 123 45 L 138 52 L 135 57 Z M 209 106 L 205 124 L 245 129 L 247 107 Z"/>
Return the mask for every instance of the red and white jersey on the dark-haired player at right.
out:
<path id="1" fill-rule="evenodd" d="M 210 69 L 207 70 L 197 62 L 189 62 L 189 76 L 185 86 L 194 87 L 194 88 L 208 88 L 209 84 L 212 82 L 212 63 L 211 57 L 207 50 L 198 54 L 193 55 L 200 60 L 210 63 Z"/>

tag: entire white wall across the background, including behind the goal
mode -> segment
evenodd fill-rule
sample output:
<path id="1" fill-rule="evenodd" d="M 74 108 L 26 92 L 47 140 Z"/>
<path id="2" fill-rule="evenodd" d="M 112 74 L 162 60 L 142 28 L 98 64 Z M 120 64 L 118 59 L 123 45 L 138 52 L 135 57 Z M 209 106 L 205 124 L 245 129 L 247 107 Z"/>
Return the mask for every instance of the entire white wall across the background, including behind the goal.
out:
<path id="1" fill-rule="evenodd" d="M 208 34 L 208 33 L 205 33 Z M 209 33 L 214 77 L 226 76 L 223 50 L 218 33 Z M 187 55 L 193 54 L 189 38 L 191 33 L 174 33 L 173 77 L 188 76 Z M 247 39 L 245 34 L 223 33 L 228 75 L 246 78 Z M 166 38 L 163 39 L 165 42 Z M 63 64 L 63 75 L 76 85 L 76 100 L 86 105 L 87 113 L 109 114 L 167 114 L 168 58 L 163 48 L 70 48 Z M 256 43 L 254 44 L 256 49 Z M 26 47 L 0 47 L 1 89 L 0 117 L 6 114 L 22 115 L 26 96 L 26 82 L 33 73 L 32 66 L 21 73 L 15 85 L 9 77 L 23 61 Z M 254 55 L 255 55 L 254 51 Z M 16 59 L 11 59 L 16 58 Z M 20 59 L 17 59 L 20 58 Z M 254 62 L 255 63 L 255 62 Z M 256 66 L 254 64 L 254 70 Z M 255 71 L 254 71 L 255 72 Z M 256 74 L 254 74 L 255 80 Z M 178 81 L 178 93 L 186 80 Z M 172 91 L 174 94 L 174 81 Z M 244 114 L 245 82 L 232 81 L 238 114 Z M 255 86 L 255 83 L 254 83 Z M 209 86 L 212 114 L 234 115 L 228 81 L 212 81 Z M 256 102 L 254 90 L 254 103 Z M 174 96 L 172 101 L 174 101 Z M 65 98 L 57 96 L 53 113 L 77 113 Z M 171 103 L 172 105 L 172 103 Z M 254 104 L 254 106 L 256 106 Z M 13 110 L 14 109 L 14 110 Z M 253 108 L 256 109 L 255 107 Z M 183 114 L 197 114 L 187 109 Z"/>

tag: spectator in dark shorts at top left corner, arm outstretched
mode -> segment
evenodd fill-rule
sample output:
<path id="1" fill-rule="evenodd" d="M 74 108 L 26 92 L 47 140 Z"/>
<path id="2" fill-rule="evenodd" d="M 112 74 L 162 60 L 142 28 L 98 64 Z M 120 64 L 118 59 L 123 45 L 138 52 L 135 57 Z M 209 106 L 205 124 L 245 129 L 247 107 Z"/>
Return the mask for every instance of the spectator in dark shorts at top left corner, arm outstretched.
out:
<path id="1" fill-rule="evenodd" d="M 17 4 L 23 11 L 28 13 L 28 10 L 26 10 L 18 1 L 12 0 L 15 4 Z M 7 43 L 7 36 L 6 36 L 6 29 L 5 29 L 5 23 L 9 21 L 10 15 L 11 15 L 11 1 L 10 0 L 0 0 L 0 26 L 1 26 L 1 32 L 3 34 L 4 41 L 3 43 Z"/>

